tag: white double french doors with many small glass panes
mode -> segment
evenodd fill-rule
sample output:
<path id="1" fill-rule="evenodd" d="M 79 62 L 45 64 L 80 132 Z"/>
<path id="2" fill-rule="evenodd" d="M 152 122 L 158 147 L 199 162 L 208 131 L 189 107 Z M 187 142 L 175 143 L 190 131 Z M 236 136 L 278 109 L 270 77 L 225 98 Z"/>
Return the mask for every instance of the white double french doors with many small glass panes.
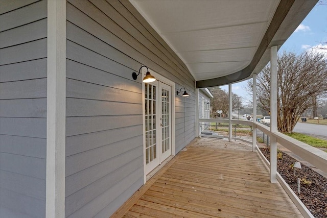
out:
<path id="1" fill-rule="evenodd" d="M 144 87 L 145 173 L 172 155 L 171 86 L 154 81 Z"/>

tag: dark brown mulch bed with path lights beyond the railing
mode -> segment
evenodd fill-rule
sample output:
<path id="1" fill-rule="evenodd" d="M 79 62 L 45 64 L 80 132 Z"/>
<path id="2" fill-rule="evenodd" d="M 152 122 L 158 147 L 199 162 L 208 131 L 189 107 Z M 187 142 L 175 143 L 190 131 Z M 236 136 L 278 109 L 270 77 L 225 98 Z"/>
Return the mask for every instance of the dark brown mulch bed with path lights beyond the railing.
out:
<path id="1" fill-rule="evenodd" d="M 260 150 L 269 160 L 269 148 L 260 148 Z M 294 176 L 293 164 L 296 160 L 284 152 L 278 155 L 278 152 L 281 151 L 277 151 L 278 173 L 315 217 L 327 217 L 327 179 L 303 164 L 301 169 L 296 169 L 296 176 Z M 298 177 L 302 179 L 300 194 L 297 193 Z"/>

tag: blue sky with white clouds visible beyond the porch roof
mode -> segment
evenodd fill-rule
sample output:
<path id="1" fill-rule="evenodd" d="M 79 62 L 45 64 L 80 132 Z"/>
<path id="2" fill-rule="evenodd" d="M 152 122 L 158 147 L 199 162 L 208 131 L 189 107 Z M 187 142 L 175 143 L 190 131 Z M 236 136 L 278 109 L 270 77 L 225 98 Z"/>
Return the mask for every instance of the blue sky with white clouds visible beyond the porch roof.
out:
<path id="1" fill-rule="evenodd" d="M 325 43 L 323 43 L 325 42 Z M 295 52 L 301 53 L 303 51 L 313 51 L 324 53 L 327 58 L 327 0 L 319 1 L 311 10 L 308 16 L 296 28 L 293 34 L 282 45 L 278 53 Z M 317 47 L 324 47 L 325 50 L 317 49 Z M 245 91 L 246 81 L 232 84 L 232 93 L 242 97 L 243 103 L 247 104 L 248 100 L 252 98 Z M 222 89 L 228 91 L 228 85 L 221 86 Z"/>

